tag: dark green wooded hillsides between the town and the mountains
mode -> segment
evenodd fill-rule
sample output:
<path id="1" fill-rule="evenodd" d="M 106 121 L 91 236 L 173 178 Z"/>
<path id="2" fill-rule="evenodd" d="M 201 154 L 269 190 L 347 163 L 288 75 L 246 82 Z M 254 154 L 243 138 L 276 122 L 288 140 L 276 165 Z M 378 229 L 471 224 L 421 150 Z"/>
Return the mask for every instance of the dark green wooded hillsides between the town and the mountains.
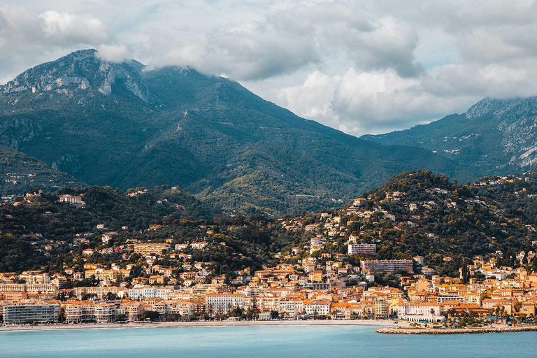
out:
<path id="1" fill-rule="evenodd" d="M 206 250 L 188 248 L 185 253 L 196 262 L 213 262 L 215 274 L 228 278 L 247 267 L 296 264 L 309 253 L 301 250 L 298 255 L 289 255 L 291 248 L 306 247 L 316 234 L 327 240 L 322 250 L 311 255 L 320 263 L 334 259 L 335 254 L 345 254 L 352 236 L 358 242 L 375 243 L 377 259 L 422 255 L 438 274 L 458 276 L 461 268 L 463 281 L 471 276 L 468 265 L 475 255 L 496 257 L 499 264 L 537 271 L 537 260 L 520 262 L 516 258 L 521 251 L 534 250 L 537 241 L 535 173 L 484 178 L 475 184 L 451 182 L 430 171 L 401 173 L 364 194 L 366 201 L 359 208 L 348 205 L 332 213 L 340 215 L 345 232 L 333 238 L 324 229 L 316 233 L 305 230 L 308 224 L 319 228 L 329 224 L 327 215 L 305 213 L 275 219 L 262 214 L 222 214 L 181 189 L 166 185 L 130 189 L 130 195 L 110 187 L 59 192 L 66 193 L 83 194 L 85 208 L 59 203 L 58 194 L 43 194 L 17 206 L 0 207 L 0 271 L 39 266 L 61 271 L 64 264 L 76 265 L 76 257 L 85 248 L 95 250 L 87 262 L 104 266 L 121 262 L 121 251 L 99 252 L 110 248 L 101 242 L 101 234 L 110 230 L 117 231 L 113 247 L 122 247 L 127 240 L 162 243 L 171 239 L 171 244 L 206 240 Z M 410 204 L 416 207 L 410 209 Z M 97 224 L 105 229 L 96 229 Z M 150 224 L 162 227 L 150 230 Z M 45 245 L 50 246 L 48 252 L 41 250 Z M 332 256 L 322 257 L 322 253 Z M 347 260 L 356 266 L 360 259 L 370 258 L 350 256 Z M 131 255 L 129 263 L 138 265 L 140 259 Z M 170 264 L 165 258 L 157 263 Z M 142 275 L 136 267 L 133 272 Z M 394 273 L 378 276 L 378 284 L 397 285 L 397 277 Z"/>

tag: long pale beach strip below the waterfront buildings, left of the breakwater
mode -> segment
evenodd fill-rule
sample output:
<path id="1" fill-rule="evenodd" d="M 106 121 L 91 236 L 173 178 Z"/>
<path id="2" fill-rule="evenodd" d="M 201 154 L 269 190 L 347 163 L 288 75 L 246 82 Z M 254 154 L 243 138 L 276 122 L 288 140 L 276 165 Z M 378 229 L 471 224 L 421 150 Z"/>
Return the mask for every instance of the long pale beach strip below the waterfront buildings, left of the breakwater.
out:
<path id="1" fill-rule="evenodd" d="M 390 320 L 304 320 L 304 321 L 202 321 L 202 322 L 136 322 L 103 324 L 47 324 L 44 326 L 1 326 L 1 332 L 53 331 L 60 329 L 120 329 L 120 328 L 172 328 L 172 327 L 251 327 L 251 326 L 361 326 L 390 327 Z"/>

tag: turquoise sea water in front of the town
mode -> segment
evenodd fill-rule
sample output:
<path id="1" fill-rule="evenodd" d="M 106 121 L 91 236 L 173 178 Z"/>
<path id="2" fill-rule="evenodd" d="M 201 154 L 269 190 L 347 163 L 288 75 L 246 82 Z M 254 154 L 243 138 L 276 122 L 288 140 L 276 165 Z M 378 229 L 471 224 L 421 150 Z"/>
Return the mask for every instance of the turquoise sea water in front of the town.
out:
<path id="1" fill-rule="evenodd" d="M 537 332 L 391 336 L 373 327 L 173 327 L 0 332 L 0 357 L 537 357 Z"/>

